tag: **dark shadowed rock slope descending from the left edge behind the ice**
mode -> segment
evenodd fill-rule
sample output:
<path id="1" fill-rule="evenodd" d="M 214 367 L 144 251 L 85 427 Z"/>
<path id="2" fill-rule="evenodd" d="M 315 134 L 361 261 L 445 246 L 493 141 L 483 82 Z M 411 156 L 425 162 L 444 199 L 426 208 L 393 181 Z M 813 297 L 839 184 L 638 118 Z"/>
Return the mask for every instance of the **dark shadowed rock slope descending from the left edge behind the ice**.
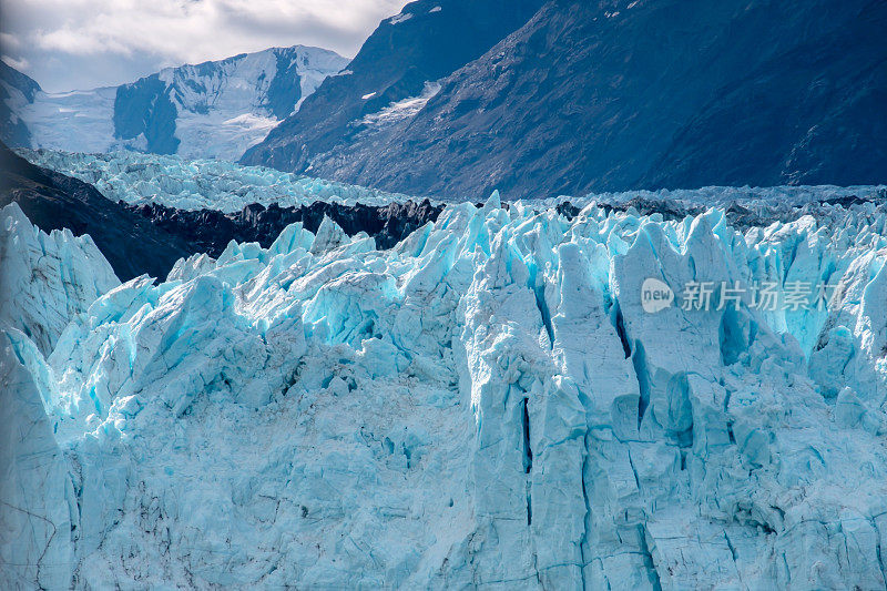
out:
<path id="1" fill-rule="evenodd" d="M 165 277 L 179 258 L 195 252 L 187 241 L 156 228 L 91 185 L 34 166 L 0 145 L 0 206 L 13 202 L 47 232 L 89 234 L 123 281 L 143 273 Z"/>

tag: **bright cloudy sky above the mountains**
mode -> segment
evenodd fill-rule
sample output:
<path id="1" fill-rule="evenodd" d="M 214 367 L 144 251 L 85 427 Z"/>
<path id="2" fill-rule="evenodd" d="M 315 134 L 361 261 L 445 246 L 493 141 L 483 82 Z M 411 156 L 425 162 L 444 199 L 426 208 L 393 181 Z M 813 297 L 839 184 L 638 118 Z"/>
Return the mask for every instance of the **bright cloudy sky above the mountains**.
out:
<path id="1" fill-rule="evenodd" d="M 49 92 L 269 47 L 351 58 L 407 0 L 0 0 L 0 54 Z"/>

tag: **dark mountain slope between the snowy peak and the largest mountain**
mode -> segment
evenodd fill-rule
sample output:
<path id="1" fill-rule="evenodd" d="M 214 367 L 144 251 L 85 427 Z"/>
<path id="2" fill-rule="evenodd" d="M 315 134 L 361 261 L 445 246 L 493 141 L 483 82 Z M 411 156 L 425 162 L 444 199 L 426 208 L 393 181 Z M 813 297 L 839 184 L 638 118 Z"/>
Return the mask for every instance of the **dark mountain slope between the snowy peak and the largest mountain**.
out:
<path id="1" fill-rule="evenodd" d="M 242 162 L 314 173 L 315 159 L 353 142 L 365 121 L 421 109 L 437 90 L 435 81 L 489 51 L 542 1 L 410 2 L 381 21 L 347 69 L 326 79 Z"/>

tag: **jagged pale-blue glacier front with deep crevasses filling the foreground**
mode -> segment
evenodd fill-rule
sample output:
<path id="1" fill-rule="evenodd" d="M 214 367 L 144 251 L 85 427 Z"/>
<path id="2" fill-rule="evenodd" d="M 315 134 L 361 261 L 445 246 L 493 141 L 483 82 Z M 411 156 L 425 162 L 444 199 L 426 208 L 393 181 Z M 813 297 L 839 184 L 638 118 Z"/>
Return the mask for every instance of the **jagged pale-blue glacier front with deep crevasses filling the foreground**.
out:
<path id="1" fill-rule="evenodd" d="M 741 234 L 493 195 L 389 251 L 295 224 L 88 300 L 47 285 L 104 276 L 91 243 L 11 205 L 3 243 L 45 256 L 2 258 L 2 577 L 883 589 L 887 216 L 828 211 Z M 650 314 L 649 277 L 843 291 Z"/>

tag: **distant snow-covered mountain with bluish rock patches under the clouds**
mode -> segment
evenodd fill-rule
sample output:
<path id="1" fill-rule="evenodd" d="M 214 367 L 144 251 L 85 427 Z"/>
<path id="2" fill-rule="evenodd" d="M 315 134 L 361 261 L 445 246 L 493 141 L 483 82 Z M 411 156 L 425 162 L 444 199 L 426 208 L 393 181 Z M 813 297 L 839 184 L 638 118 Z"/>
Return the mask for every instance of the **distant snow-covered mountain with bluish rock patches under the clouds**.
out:
<path id="1" fill-rule="evenodd" d="M 333 51 L 295 45 L 166 68 L 121 86 L 38 90 L 16 110 L 30 142 L 13 143 L 235 160 L 346 63 Z"/>

